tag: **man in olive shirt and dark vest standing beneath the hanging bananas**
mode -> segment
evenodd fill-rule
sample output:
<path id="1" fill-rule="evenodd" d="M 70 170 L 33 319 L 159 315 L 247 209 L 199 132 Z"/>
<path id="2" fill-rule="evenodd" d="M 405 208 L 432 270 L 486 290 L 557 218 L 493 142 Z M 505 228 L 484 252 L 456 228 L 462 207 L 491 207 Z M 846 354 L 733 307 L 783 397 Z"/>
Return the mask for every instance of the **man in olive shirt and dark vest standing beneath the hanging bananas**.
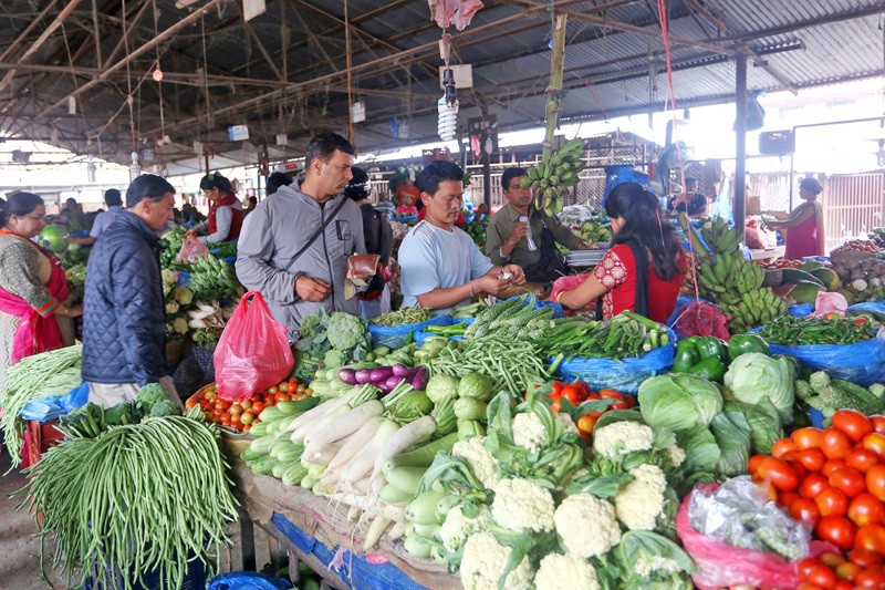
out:
<path id="1" fill-rule="evenodd" d="M 522 187 L 527 174 L 514 167 L 501 175 L 508 203 L 489 221 L 486 253 L 498 266 L 519 265 L 527 281 L 548 288 L 566 273 L 565 257 L 556 244 L 570 250 L 586 250 L 590 246 L 556 218 L 534 206 L 531 188 Z"/>

